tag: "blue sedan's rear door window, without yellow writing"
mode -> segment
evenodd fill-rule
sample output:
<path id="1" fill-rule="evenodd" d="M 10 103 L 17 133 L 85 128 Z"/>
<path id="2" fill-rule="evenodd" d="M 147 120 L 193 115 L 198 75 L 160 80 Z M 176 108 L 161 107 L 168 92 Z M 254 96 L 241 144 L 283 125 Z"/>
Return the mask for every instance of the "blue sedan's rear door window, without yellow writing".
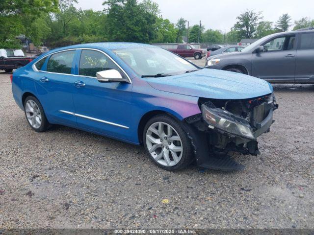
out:
<path id="1" fill-rule="evenodd" d="M 75 50 L 68 50 L 53 54 L 47 65 L 48 72 L 71 74 Z"/>

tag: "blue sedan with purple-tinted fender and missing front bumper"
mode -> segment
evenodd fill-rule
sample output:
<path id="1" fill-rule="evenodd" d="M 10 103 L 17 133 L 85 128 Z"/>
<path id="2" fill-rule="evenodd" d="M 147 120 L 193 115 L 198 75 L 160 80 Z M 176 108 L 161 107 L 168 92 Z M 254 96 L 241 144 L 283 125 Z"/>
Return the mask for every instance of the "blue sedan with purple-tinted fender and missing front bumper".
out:
<path id="1" fill-rule="evenodd" d="M 167 170 L 195 160 L 208 168 L 239 167 L 213 156 L 230 150 L 258 154 L 257 137 L 269 131 L 277 108 L 266 81 L 201 69 L 144 44 L 58 48 L 11 79 L 14 99 L 33 130 L 61 124 L 142 144 Z"/>

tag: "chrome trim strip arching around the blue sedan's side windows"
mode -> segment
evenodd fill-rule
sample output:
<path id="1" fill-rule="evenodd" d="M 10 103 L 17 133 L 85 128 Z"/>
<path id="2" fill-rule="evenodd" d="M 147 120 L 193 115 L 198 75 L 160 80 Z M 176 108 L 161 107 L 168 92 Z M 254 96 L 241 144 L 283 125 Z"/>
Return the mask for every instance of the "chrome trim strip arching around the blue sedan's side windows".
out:
<path id="1" fill-rule="evenodd" d="M 132 80 L 130 78 L 130 76 L 128 75 L 128 73 L 122 69 L 122 67 L 114 60 L 111 58 L 111 56 L 109 56 L 107 53 L 105 53 L 105 51 L 102 51 L 102 50 L 99 50 L 99 49 L 95 49 L 95 48 L 85 48 L 85 47 L 80 47 L 80 48 L 72 48 L 72 49 L 65 49 L 65 50 L 59 50 L 59 51 L 56 51 L 56 52 L 53 52 L 51 54 L 48 54 L 48 55 L 45 55 L 42 59 L 46 58 L 47 56 L 50 56 L 50 55 L 53 55 L 53 54 L 56 54 L 56 53 L 60 53 L 60 52 L 64 52 L 64 51 L 69 51 L 69 50 L 95 50 L 95 51 L 99 51 L 101 53 L 103 53 L 105 56 L 107 56 L 116 66 L 118 66 L 118 68 L 127 76 L 128 78 L 128 82 L 130 84 L 132 84 Z M 39 60 L 39 61 L 41 61 Z M 91 76 L 83 76 L 83 75 L 78 75 L 78 74 L 68 74 L 68 73 L 59 73 L 59 72 L 49 72 L 49 71 L 41 71 L 41 70 L 37 70 L 36 68 L 36 64 L 39 62 L 37 61 L 36 63 L 34 63 L 32 65 L 32 69 L 33 71 L 36 71 L 36 72 L 47 72 L 47 73 L 54 73 L 54 74 L 61 74 L 61 75 L 70 75 L 70 76 L 78 76 L 78 77 L 89 77 L 89 78 L 94 78 L 94 79 L 97 79 L 97 77 L 91 77 Z"/>

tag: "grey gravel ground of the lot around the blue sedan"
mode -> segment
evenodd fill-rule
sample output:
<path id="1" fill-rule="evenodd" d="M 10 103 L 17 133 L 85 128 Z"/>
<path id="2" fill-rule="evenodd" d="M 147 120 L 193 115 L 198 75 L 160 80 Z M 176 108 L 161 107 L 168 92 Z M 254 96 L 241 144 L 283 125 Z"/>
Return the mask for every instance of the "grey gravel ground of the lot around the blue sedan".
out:
<path id="1" fill-rule="evenodd" d="M 34 132 L 0 72 L 0 228 L 314 228 L 314 86 L 275 94 L 261 155 L 231 154 L 245 170 L 173 173 L 140 146 Z"/>

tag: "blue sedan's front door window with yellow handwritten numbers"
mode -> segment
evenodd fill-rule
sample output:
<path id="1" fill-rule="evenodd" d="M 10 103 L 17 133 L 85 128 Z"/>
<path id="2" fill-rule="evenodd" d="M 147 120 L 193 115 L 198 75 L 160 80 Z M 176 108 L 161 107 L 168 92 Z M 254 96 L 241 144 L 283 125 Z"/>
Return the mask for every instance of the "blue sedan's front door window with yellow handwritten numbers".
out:
<path id="1" fill-rule="evenodd" d="M 112 69 L 119 71 L 124 77 L 119 67 L 104 53 L 96 50 L 82 50 L 79 60 L 79 75 L 96 77 L 97 72 Z"/>

